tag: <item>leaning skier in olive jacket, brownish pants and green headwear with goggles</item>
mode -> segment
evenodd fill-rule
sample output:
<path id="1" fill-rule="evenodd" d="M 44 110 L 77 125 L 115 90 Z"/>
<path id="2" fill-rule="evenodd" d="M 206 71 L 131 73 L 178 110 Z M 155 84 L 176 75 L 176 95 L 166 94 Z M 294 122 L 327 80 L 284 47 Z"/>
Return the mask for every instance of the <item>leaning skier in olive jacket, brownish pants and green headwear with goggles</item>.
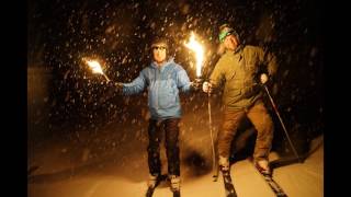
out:
<path id="1" fill-rule="evenodd" d="M 276 59 L 260 47 L 241 45 L 239 35 L 228 24 L 219 27 L 219 47 L 225 51 L 216 63 L 210 82 L 203 83 L 203 91 L 207 93 L 223 83 L 225 85 L 224 120 L 217 138 L 219 169 L 229 171 L 230 142 L 239 123 L 247 116 L 258 131 L 254 164 L 262 173 L 270 174 L 268 157 L 273 139 L 273 123 L 263 105 L 259 83 L 264 84 L 275 73 Z M 261 72 L 262 66 L 267 73 Z"/>

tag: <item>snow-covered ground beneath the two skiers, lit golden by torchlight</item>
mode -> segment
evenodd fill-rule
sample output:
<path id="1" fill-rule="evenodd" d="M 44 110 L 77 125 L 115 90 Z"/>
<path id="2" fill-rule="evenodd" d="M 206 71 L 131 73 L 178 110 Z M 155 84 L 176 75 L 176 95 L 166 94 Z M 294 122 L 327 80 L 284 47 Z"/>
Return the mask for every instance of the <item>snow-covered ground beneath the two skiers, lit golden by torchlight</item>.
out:
<path id="1" fill-rule="evenodd" d="M 213 104 L 214 108 L 219 108 Z M 202 112 L 202 113 L 200 113 Z M 143 113 L 141 113 L 143 114 Z M 138 197 L 145 196 L 147 167 L 147 117 L 111 124 L 99 130 L 76 131 L 50 139 L 29 141 L 29 197 Z M 180 125 L 181 194 L 189 197 L 224 197 L 222 178 L 212 178 L 212 149 L 206 106 L 184 107 Z M 131 123 L 129 123 L 131 121 Z M 220 112 L 213 111 L 214 132 Z M 30 138 L 32 139 L 32 138 Z M 290 197 L 324 196 L 322 135 L 314 139 L 304 163 L 274 169 L 273 178 Z M 166 173 L 165 149 L 161 149 Z M 279 158 L 270 154 L 271 161 Z M 231 165 L 238 196 L 273 197 L 274 194 L 249 160 Z M 167 182 L 155 197 L 172 196 Z"/>

